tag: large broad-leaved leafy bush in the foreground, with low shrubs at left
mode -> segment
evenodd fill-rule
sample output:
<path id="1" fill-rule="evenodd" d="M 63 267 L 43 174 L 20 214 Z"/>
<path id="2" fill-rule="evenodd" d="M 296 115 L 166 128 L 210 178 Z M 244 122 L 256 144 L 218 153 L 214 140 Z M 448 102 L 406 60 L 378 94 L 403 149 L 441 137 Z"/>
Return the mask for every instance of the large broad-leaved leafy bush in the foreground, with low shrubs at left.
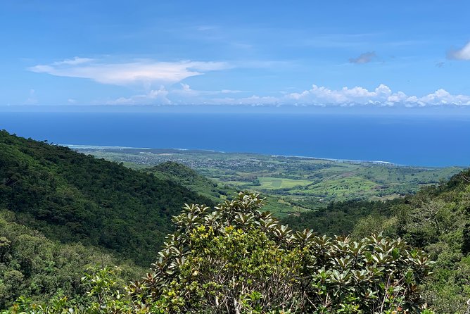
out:
<path id="1" fill-rule="evenodd" d="M 421 251 L 381 235 L 293 232 L 260 211 L 264 201 L 186 206 L 144 280 L 122 289 L 105 268 L 84 276 L 89 299 L 77 306 L 20 299 L 5 313 L 431 313 Z"/>

